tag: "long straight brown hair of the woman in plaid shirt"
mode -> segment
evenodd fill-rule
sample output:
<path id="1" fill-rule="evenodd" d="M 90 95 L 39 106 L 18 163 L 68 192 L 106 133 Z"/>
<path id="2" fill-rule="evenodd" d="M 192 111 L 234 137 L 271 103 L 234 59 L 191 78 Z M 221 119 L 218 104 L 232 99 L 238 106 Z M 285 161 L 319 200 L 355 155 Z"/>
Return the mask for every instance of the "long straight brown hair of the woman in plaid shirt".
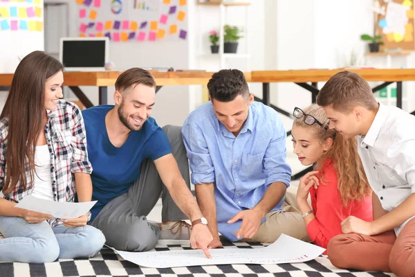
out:
<path id="1" fill-rule="evenodd" d="M 42 118 L 45 110 L 45 82 L 62 71 L 64 66 L 54 57 L 43 51 L 35 51 L 21 60 L 0 119 L 8 120 L 6 149 L 6 180 L 3 193 L 10 193 L 20 181 L 26 190 L 26 162 L 30 168 L 30 181 L 33 184 L 35 170 L 35 145 L 42 132 Z"/>

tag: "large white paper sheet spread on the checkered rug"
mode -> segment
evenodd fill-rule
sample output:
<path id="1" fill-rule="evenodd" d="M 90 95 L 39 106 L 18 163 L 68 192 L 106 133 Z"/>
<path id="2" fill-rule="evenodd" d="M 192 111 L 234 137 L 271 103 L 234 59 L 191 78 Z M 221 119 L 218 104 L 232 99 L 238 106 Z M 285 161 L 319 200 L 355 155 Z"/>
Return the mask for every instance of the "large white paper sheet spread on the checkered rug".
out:
<path id="1" fill-rule="evenodd" d="M 109 247 L 113 249 L 112 247 Z M 254 249 L 210 249 L 212 259 L 205 257 L 202 250 L 172 250 L 128 252 L 116 251 L 124 260 L 142 267 L 190 267 L 194 265 L 259 264 L 306 262 L 320 256 L 326 249 L 282 234 L 267 247 Z"/>

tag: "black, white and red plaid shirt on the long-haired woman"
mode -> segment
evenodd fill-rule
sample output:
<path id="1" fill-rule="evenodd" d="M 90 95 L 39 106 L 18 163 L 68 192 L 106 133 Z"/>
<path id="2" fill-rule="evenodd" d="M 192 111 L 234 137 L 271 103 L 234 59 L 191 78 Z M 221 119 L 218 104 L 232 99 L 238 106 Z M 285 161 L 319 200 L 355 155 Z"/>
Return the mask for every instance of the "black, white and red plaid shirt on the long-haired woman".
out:
<path id="1" fill-rule="evenodd" d="M 86 152 L 86 134 L 84 119 L 80 109 L 71 102 L 59 100 L 53 111 L 48 111 L 48 122 L 44 128 L 50 153 L 50 176 L 52 180 L 53 199 L 56 202 L 73 202 L 75 195 L 75 178 L 73 173 L 91 174 L 92 166 Z M 6 172 L 6 151 L 8 141 L 8 119 L 0 120 L 0 190 L 3 189 Z M 17 184 L 5 199 L 19 202 L 33 192 L 30 182 L 29 165 L 26 163 L 26 190 Z M 59 224 L 56 219 L 50 225 Z"/>

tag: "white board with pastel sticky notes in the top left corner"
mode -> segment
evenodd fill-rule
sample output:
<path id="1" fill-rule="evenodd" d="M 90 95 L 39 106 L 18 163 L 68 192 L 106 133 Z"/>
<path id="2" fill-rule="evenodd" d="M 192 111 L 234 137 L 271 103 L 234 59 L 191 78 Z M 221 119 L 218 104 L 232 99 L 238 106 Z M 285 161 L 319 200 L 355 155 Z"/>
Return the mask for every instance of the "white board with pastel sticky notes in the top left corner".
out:
<path id="1" fill-rule="evenodd" d="M 42 0 L 1 0 L 0 32 L 42 32 Z"/>

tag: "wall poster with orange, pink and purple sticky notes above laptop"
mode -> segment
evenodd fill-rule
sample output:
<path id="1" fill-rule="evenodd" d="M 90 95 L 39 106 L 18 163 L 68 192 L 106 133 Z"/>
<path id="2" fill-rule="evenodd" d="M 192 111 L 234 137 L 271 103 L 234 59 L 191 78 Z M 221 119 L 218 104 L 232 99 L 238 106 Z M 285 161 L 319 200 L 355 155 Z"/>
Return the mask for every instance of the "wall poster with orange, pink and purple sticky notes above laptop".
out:
<path id="1" fill-rule="evenodd" d="M 188 0 L 74 0 L 80 37 L 113 42 L 187 39 Z"/>

